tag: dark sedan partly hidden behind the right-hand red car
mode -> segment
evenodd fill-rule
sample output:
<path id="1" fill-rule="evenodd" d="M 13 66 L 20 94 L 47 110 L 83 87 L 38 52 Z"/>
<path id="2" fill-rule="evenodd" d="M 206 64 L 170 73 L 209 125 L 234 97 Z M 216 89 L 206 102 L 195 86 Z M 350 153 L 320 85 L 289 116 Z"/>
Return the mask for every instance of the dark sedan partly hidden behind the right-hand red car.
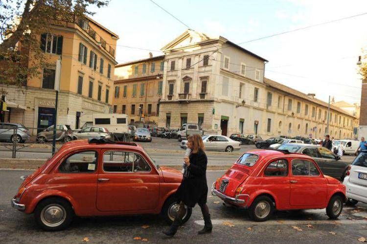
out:
<path id="1" fill-rule="evenodd" d="M 351 162 L 342 160 L 330 150 L 310 144 L 285 144 L 281 145 L 278 150 L 288 150 L 291 153 L 300 153 L 309 155 L 320 166 L 322 173 L 327 176 L 344 179 L 347 167 Z"/>

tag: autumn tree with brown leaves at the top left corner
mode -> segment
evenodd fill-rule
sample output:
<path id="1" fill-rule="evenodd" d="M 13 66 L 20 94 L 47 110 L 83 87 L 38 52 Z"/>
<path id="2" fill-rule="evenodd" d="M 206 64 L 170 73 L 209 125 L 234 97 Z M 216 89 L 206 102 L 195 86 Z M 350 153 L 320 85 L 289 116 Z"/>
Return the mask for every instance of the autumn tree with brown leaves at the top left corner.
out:
<path id="1" fill-rule="evenodd" d="M 52 23 L 76 22 L 93 15 L 90 7 L 109 0 L 1 0 L 0 85 L 22 86 L 47 65 L 40 36 L 52 34 Z M 0 93 L 4 93 L 4 89 Z"/>

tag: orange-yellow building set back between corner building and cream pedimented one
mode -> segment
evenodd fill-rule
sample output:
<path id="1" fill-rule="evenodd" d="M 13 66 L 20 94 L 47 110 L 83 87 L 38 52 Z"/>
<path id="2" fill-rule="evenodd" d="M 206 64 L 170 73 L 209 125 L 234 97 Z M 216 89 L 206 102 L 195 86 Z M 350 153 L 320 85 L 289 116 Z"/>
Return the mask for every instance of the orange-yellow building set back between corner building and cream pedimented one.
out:
<path id="1" fill-rule="evenodd" d="M 158 123 L 164 55 L 115 67 L 114 112 L 126 113 L 129 123 Z"/>

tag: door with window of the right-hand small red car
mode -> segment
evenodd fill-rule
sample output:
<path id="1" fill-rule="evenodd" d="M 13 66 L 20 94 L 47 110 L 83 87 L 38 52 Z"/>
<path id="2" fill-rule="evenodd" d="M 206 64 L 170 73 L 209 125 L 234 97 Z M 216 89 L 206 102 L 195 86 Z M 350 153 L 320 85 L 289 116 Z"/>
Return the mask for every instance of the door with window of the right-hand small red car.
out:
<path id="1" fill-rule="evenodd" d="M 291 161 L 290 205 L 294 208 L 323 206 L 327 196 L 326 179 L 310 159 Z"/>

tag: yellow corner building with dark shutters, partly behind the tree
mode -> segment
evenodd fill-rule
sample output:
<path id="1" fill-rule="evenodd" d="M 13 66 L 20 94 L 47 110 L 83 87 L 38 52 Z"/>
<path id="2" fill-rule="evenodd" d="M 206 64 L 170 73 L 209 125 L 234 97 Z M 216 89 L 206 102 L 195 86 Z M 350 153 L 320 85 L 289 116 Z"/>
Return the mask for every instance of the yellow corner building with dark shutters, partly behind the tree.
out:
<path id="1" fill-rule="evenodd" d="M 40 70 L 40 77 L 28 78 L 22 89 L 6 88 L 6 100 L 13 108 L 5 121 L 23 123 L 29 128 L 54 124 L 57 60 L 61 60 L 57 124 L 76 129 L 82 126 L 79 117 L 83 113 L 111 111 L 118 36 L 88 17 L 55 22 L 52 30 L 53 35 L 40 37 L 49 67 Z"/>

